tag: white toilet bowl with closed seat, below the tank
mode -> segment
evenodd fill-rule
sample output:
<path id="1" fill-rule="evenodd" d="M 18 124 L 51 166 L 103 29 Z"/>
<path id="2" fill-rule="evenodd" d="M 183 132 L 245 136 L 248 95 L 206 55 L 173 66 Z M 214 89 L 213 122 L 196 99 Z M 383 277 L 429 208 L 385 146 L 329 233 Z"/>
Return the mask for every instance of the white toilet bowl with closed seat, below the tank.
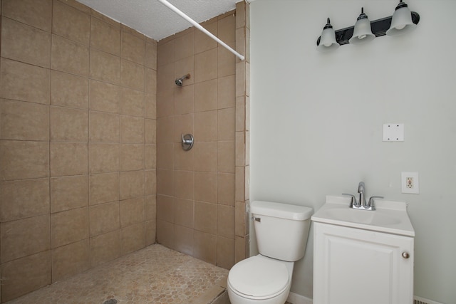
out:
<path id="1" fill-rule="evenodd" d="M 228 275 L 232 304 L 283 304 L 289 295 L 293 262 L 252 256 L 237 263 Z"/>

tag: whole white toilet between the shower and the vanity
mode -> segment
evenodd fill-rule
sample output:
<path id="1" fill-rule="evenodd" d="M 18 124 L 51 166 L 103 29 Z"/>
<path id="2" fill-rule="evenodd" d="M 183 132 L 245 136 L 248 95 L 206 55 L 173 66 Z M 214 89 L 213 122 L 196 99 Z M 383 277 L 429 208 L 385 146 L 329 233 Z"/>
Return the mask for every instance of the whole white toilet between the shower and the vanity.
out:
<path id="1" fill-rule="evenodd" d="M 259 254 L 234 265 L 227 289 L 232 304 L 284 304 L 294 262 L 304 256 L 313 210 L 305 206 L 252 201 Z"/>

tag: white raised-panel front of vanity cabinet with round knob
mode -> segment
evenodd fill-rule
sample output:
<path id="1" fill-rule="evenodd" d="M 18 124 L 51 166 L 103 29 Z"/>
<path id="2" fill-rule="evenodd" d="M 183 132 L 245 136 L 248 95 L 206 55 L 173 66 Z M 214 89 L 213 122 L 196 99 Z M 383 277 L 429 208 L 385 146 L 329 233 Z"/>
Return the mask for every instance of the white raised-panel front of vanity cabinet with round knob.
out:
<path id="1" fill-rule="evenodd" d="M 314 304 L 366 303 L 413 303 L 413 238 L 314 222 Z"/>

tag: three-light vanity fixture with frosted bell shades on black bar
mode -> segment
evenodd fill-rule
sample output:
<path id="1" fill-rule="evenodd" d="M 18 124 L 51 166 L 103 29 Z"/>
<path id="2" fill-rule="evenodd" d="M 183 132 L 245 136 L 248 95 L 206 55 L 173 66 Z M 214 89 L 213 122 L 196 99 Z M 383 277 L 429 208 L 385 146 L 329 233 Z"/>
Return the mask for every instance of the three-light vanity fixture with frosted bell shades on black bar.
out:
<path id="1" fill-rule="evenodd" d="M 420 22 L 420 15 L 415 11 L 410 11 L 408 5 L 405 4 L 403 0 L 400 0 L 398 6 L 396 6 L 393 16 L 374 21 L 368 20 L 366 14 L 364 14 L 364 9 L 362 8 L 355 26 L 334 31 L 328 19 L 328 23 L 323 28 L 321 36 L 318 37 L 316 41 L 317 51 L 333 51 L 338 48 L 339 45 L 343 46 L 348 43 L 360 44 L 365 41 L 371 41 L 375 37 L 385 35 L 400 36 L 404 33 L 413 31 L 418 22 Z M 328 38 L 332 37 L 331 31 L 334 31 L 336 43 Z"/>

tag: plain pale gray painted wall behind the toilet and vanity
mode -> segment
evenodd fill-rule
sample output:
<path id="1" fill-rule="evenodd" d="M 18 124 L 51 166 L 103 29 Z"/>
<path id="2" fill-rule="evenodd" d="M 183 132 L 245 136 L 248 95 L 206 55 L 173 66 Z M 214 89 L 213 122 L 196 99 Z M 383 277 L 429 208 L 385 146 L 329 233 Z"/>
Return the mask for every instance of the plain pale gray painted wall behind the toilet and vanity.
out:
<path id="1" fill-rule="evenodd" d="M 421 16 L 408 36 L 316 51 L 327 17 L 345 28 L 361 6 L 372 21 L 397 4 L 252 2 L 251 201 L 317 210 L 326 194 L 356 192 L 360 181 L 368 196 L 406 201 L 416 233 L 414 293 L 455 303 L 456 1 L 408 1 Z M 382 142 L 387 122 L 405 124 L 404 142 Z M 419 172 L 420 194 L 401 193 L 400 172 Z M 312 251 L 310 236 L 291 288 L 308 298 Z"/>

